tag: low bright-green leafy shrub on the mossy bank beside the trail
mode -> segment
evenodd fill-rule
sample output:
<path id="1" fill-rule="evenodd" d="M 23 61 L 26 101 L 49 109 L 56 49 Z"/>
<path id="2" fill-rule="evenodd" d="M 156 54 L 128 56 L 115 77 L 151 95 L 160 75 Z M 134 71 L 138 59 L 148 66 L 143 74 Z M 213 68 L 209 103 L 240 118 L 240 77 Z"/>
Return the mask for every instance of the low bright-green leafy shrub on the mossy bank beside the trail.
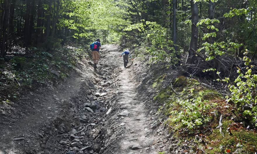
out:
<path id="1" fill-rule="evenodd" d="M 199 93 L 200 95 L 200 93 Z M 178 100 L 178 105 L 183 108 L 181 111 L 171 112 L 172 122 L 176 123 L 178 129 L 187 128 L 188 130 L 197 129 L 211 120 L 208 115 L 211 108 L 217 104 L 208 104 L 202 97 L 190 100 Z"/>

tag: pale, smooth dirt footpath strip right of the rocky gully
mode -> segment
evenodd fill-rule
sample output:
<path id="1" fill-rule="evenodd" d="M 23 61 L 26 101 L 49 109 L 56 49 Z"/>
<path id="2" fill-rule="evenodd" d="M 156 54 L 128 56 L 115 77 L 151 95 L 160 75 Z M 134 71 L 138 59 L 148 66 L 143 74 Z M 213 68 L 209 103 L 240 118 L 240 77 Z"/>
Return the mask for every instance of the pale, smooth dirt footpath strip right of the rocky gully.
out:
<path id="1" fill-rule="evenodd" d="M 111 55 L 119 56 L 120 53 L 111 52 Z M 116 56 L 114 56 L 116 57 Z M 131 71 L 133 63 L 129 62 L 129 66 L 123 67 L 123 59 L 117 61 L 121 72 L 119 74 L 118 83 L 121 94 L 118 104 L 121 105 L 118 117 L 121 118 L 120 126 L 124 126 L 119 145 L 114 149 L 117 154 L 156 154 L 155 150 L 150 146 L 153 139 L 150 131 L 150 119 L 145 114 L 144 100 L 138 93 L 138 83 L 135 75 Z"/>

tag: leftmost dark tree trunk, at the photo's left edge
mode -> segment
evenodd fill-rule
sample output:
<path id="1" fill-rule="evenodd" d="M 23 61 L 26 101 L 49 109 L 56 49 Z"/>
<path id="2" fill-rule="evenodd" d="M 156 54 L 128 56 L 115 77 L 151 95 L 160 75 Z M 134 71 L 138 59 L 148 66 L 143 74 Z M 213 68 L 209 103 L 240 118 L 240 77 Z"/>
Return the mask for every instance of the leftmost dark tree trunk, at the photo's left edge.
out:
<path id="1" fill-rule="evenodd" d="M 8 15 L 9 15 L 9 1 L 4 0 L 4 12 L 3 12 L 3 25 L 2 25 L 2 46 L 1 46 L 1 57 L 6 54 L 6 42 L 8 38 Z"/>

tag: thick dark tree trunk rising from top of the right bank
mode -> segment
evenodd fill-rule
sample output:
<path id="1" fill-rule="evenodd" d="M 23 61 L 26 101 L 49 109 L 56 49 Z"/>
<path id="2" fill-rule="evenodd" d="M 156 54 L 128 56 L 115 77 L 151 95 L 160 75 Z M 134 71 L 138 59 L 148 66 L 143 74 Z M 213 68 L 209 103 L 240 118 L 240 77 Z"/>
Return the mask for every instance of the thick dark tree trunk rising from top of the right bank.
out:
<path id="1" fill-rule="evenodd" d="M 188 50 L 188 57 L 187 57 L 186 64 L 194 64 L 194 62 L 195 62 L 195 53 L 194 53 L 194 51 L 197 50 L 197 40 L 198 40 L 198 28 L 196 27 L 196 24 L 197 24 L 197 22 L 199 20 L 198 3 L 197 2 L 194 3 L 194 1 L 191 0 L 190 4 L 191 4 L 191 12 L 192 12 L 192 28 L 191 28 L 190 49 Z"/>

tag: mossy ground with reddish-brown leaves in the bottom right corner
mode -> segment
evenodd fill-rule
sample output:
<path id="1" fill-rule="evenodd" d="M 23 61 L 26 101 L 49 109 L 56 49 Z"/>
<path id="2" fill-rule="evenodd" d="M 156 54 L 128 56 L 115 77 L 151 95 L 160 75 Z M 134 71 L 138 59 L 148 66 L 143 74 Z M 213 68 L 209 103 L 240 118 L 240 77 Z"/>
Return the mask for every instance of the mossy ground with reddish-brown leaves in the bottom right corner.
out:
<path id="1" fill-rule="evenodd" d="M 219 129 L 213 129 L 212 134 L 206 136 L 207 146 L 211 147 L 206 149 L 206 153 L 225 153 L 226 149 L 231 150 L 231 153 L 235 151 L 245 154 L 256 152 L 257 134 L 240 127 L 232 128 L 227 132 L 227 129 L 231 128 L 232 125 L 234 125 L 233 121 L 226 120 L 222 126 L 223 134 L 220 134 Z"/>

